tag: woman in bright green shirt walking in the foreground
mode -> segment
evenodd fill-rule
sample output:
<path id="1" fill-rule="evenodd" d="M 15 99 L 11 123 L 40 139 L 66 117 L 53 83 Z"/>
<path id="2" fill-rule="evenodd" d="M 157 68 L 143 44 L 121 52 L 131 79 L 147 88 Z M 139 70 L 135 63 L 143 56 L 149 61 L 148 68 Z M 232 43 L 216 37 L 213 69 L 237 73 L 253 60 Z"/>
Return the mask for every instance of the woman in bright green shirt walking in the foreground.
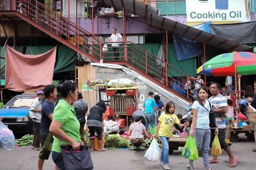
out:
<path id="1" fill-rule="evenodd" d="M 59 169 L 64 169 L 61 155 L 61 144 L 70 144 L 73 150 L 79 150 L 83 144 L 79 134 L 80 124 L 76 118 L 76 112 L 72 106 L 77 100 L 77 84 L 74 81 L 65 81 L 57 87 L 61 93 L 61 100 L 56 105 L 50 132 L 54 135 L 52 144 L 52 160 Z"/>

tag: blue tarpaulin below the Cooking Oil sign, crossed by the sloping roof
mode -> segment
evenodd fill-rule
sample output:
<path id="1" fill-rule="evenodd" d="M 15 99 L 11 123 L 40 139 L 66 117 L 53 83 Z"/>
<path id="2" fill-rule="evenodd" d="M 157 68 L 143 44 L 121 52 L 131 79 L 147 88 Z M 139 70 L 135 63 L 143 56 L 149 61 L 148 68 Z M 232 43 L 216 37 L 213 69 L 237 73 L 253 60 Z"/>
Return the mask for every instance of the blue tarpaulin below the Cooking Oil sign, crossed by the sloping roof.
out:
<path id="1" fill-rule="evenodd" d="M 207 33 L 210 33 L 211 22 L 198 24 L 195 27 Z M 195 58 L 198 53 L 202 54 L 202 47 L 200 43 L 195 42 L 189 38 L 182 38 L 179 35 L 173 35 L 173 43 L 177 54 L 177 60 L 182 61 L 189 58 Z"/>

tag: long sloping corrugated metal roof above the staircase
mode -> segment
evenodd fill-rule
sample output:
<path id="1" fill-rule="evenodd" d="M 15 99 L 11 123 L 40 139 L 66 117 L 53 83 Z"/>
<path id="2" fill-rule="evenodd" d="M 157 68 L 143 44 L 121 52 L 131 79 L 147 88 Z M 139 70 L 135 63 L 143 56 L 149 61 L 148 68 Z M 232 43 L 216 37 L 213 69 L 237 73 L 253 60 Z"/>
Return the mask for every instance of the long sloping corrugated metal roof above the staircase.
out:
<path id="1" fill-rule="evenodd" d="M 141 4 L 132 0 L 95 0 L 100 3 L 105 4 L 106 6 L 113 6 L 115 10 L 125 9 L 126 12 L 131 12 L 136 15 L 140 15 L 145 19 L 148 19 L 148 24 L 150 26 L 159 27 L 160 29 L 167 29 L 174 34 L 184 36 L 186 38 L 190 38 L 191 40 L 195 40 L 197 42 L 205 42 L 207 45 L 211 45 L 213 47 L 217 47 L 219 49 L 227 50 L 227 51 L 250 51 L 251 47 L 247 45 L 242 45 L 237 42 L 233 42 L 227 40 L 225 38 L 221 38 L 220 36 L 212 35 L 210 33 L 206 33 L 201 31 L 200 29 L 196 29 L 194 27 L 190 27 L 184 24 L 180 24 L 174 20 L 166 19 L 158 15 L 158 10 L 153 8 L 152 6 L 148 6 L 146 4 Z"/>

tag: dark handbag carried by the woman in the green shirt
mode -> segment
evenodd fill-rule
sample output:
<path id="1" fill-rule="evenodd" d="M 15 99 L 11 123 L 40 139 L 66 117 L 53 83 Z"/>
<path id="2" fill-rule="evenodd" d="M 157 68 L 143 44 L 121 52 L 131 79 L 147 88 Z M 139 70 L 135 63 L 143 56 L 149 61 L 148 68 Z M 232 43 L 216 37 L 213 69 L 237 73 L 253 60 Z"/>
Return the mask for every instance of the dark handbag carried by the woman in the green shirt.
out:
<path id="1" fill-rule="evenodd" d="M 67 170 L 93 169 L 92 157 L 87 145 L 81 145 L 79 150 L 72 150 L 71 145 L 61 145 L 61 155 L 64 168 Z"/>

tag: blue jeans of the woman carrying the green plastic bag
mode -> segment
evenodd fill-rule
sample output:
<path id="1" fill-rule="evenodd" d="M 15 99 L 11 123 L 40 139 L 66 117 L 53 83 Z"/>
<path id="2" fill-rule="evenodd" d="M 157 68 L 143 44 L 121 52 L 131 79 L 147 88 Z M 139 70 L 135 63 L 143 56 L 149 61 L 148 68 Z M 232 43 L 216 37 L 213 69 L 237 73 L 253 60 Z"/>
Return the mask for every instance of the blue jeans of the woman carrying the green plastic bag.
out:
<path id="1" fill-rule="evenodd" d="M 211 141 L 211 130 L 210 128 L 195 128 L 195 142 L 198 152 L 202 150 L 204 159 L 204 168 L 210 169 L 209 163 L 209 149 Z M 193 160 L 189 160 L 189 164 L 193 165 Z"/>

